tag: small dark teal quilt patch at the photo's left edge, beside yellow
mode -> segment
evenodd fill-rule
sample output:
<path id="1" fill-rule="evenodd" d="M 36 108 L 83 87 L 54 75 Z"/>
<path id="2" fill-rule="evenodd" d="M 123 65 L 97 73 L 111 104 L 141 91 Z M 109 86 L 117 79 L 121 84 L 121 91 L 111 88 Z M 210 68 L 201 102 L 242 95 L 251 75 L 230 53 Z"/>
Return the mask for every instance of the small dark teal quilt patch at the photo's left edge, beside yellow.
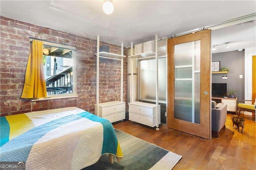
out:
<path id="1" fill-rule="evenodd" d="M 5 117 L 0 117 L 0 147 L 9 141 L 10 126 Z"/>

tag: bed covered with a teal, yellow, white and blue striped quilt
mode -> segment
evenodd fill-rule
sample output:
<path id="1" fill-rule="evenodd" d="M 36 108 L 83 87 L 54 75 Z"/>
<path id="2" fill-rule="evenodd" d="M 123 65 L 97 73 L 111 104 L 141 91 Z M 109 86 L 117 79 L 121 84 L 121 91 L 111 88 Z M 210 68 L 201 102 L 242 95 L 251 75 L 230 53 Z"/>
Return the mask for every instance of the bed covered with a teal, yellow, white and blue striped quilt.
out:
<path id="1" fill-rule="evenodd" d="M 77 107 L 0 117 L 0 161 L 26 162 L 26 169 L 77 169 L 100 156 L 120 161 L 112 124 Z"/>

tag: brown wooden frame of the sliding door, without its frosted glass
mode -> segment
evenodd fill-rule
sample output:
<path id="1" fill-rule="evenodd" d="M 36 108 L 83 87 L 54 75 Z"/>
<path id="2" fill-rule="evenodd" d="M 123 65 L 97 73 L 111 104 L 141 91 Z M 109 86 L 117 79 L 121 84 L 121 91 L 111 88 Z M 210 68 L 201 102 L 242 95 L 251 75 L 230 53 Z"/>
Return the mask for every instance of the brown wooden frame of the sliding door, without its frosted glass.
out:
<path id="1" fill-rule="evenodd" d="M 168 71 L 167 71 L 167 82 L 168 82 L 168 118 L 167 126 L 174 128 L 182 132 L 188 132 L 196 136 L 210 139 L 211 134 L 211 52 L 210 52 L 210 30 L 203 30 L 200 32 L 187 34 L 184 36 L 172 38 L 168 40 Z M 205 79 L 200 78 L 200 124 L 190 123 L 179 119 L 174 119 L 174 45 L 186 42 L 192 42 L 201 40 L 201 56 L 200 56 L 200 73 L 204 71 L 205 74 L 209 75 Z M 202 77 L 202 76 L 200 76 Z M 204 91 L 208 91 L 205 95 Z M 207 114 L 203 114 L 207 113 Z M 179 123 L 179 125 L 177 125 Z M 193 124 L 193 126 L 192 126 Z"/>

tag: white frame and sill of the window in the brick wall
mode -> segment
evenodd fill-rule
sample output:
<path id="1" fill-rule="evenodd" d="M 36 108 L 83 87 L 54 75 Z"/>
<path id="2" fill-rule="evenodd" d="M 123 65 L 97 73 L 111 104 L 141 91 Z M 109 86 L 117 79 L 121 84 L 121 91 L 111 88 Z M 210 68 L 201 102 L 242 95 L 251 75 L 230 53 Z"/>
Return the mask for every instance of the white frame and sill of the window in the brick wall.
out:
<path id="1" fill-rule="evenodd" d="M 63 43 L 55 43 L 55 42 L 50 42 L 46 40 L 40 40 L 40 39 L 35 39 L 35 38 L 30 38 L 30 41 L 32 40 L 39 40 L 43 42 L 43 45 L 51 46 L 51 47 L 60 47 L 64 49 L 70 49 L 72 50 L 72 67 L 73 67 L 73 93 L 72 94 L 59 94 L 59 95 L 47 95 L 47 97 L 40 98 L 40 99 L 33 99 L 31 101 L 40 101 L 40 100 L 49 100 L 49 99 L 62 99 L 62 98 L 69 98 L 69 97 L 78 97 L 77 95 L 77 79 L 76 79 L 76 47 L 72 45 L 67 45 Z M 43 55 L 42 55 L 43 56 Z"/>

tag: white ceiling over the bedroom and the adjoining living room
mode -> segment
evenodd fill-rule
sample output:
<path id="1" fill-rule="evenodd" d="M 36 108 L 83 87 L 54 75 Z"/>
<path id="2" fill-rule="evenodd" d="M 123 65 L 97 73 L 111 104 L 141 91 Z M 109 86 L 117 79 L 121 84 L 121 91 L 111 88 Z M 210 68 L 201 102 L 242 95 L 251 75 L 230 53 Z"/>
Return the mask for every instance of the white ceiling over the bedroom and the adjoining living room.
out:
<path id="1" fill-rule="evenodd" d="M 256 12 L 256 1 L 122 1 L 113 0 L 114 12 L 104 14 L 104 0 L 0 0 L 0 14 L 46 28 L 124 46 L 164 38 Z M 256 22 L 212 31 L 215 52 L 255 47 Z M 223 47 L 223 48 L 222 48 Z"/>

